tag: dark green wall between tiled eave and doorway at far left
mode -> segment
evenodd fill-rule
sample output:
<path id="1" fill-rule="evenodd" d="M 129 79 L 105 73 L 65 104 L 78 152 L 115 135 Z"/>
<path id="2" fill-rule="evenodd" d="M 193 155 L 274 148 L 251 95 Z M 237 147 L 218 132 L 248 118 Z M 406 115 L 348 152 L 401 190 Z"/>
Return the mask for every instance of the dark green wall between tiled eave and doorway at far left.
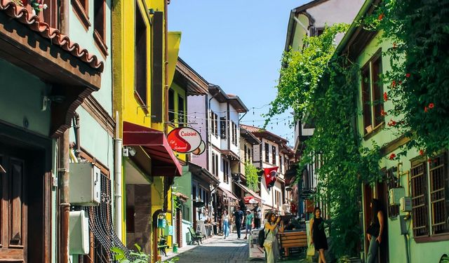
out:
<path id="1" fill-rule="evenodd" d="M 48 136 L 50 107 L 41 111 L 43 95 L 50 86 L 36 76 L 0 59 L 0 119 L 7 123 Z M 28 127 L 24 126 L 24 119 Z"/>

